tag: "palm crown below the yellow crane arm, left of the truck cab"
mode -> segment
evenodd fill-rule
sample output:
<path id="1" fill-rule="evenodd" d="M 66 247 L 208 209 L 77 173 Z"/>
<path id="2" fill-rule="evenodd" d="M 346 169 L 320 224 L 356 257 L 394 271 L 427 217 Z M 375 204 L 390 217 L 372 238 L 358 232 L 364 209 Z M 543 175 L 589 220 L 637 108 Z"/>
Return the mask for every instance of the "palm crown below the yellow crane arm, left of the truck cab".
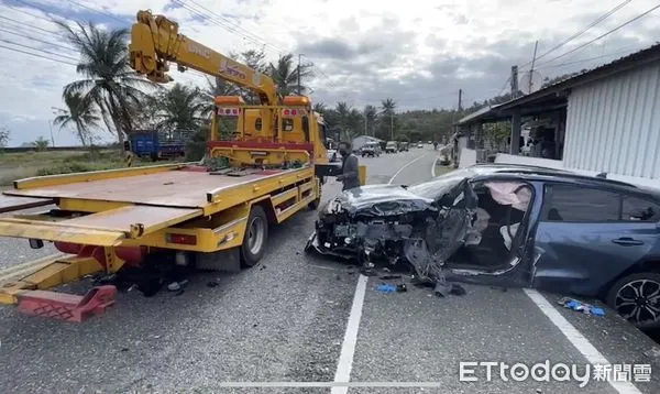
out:
<path id="1" fill-rule="evenodd" d="M 207 103 L 198 88 L 175 84 L 172 89 L 158 94 L 156 118 L 157 129 L 168 132 L 175 130 L 193 131 L 201 125 Z"/>

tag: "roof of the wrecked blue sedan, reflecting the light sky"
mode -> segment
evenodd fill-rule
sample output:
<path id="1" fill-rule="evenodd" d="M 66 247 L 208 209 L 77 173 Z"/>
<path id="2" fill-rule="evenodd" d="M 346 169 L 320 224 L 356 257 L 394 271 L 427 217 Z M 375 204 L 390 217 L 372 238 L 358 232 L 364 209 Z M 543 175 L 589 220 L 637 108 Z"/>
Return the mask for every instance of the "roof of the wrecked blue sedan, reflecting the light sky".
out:
<path id="1" fill-rule="evenodd" d="M 502 178 L 502 179 L 527 179 L 527 180 L 542 180 L 542 182 L 561 182 L 570 183 L 575 185 L 588 185 L 597 187 L 606 187 L 616 189 L 619 191 L 630 191 L 635 194 L 651 195 L 656 199 L 660 200 L 660 190 L 647 187 L 639 187 L 626 182 L 607 179 L 596 176 L 588 176 L 578 174 L 566 169 L 549 168 L 542 166 L 524 165 L 524 164 L 508 164 L 508 163 L 487 163 L 487 164 L 475 164 L 473 166 L 464 168 L 466 172 L 472 173 L 474 178 Z"/>

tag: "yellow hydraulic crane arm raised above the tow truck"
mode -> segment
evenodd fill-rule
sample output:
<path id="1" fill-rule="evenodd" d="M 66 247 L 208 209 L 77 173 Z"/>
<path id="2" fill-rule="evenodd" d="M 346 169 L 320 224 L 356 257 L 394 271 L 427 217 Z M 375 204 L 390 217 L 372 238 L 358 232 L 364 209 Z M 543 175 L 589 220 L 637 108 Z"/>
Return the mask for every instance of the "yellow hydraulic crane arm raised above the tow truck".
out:
<path id="1" fill-rule="evenodd" d="M 189 67 L 255 91 L 262 105 L 279 103 L 273 78 L 178 34 L 178 23 L 163 15 L 138 12 L 129 51 L 131 67 L 155 83 L 172 80 L 167 75 L 168 62 L 175 62 L 179 67 Z"/>

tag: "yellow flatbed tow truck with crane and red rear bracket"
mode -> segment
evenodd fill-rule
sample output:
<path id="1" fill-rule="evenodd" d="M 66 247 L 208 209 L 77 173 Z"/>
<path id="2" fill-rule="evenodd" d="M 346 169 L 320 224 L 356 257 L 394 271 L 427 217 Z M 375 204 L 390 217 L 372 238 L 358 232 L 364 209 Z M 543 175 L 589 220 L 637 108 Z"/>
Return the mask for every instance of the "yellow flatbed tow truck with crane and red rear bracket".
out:
<path id="1" fill-rule="evenodd" d="M 117 288 L 86 295 L 50 288 L 91 274 L 143 264 L 237 271 L 265 252 L 268 225 L 316 208 L 328 163 L 324 124 L 305 96 L 279 97 L 273 79 L 178 33 L 163 15 L 140 11 L 129 45 L 131 66 L 168 83 L 169 62 L 254 91 L 215 99 L 207 155 L 199 163 L 130 167 L 15 180 L 0 195 L 0 237 L 53 242 L 62 255 L 0 272 L 0 303 L 67 321 L 82 321 L 114 303 Z M 237 128 L 218 139 L 220 120 Z M 361 183 L 365 171 L 361 168 Z M 26 208 L 46 207 L 36 214 Z M 158 256 L 153 259 L 153 256 Z"/>

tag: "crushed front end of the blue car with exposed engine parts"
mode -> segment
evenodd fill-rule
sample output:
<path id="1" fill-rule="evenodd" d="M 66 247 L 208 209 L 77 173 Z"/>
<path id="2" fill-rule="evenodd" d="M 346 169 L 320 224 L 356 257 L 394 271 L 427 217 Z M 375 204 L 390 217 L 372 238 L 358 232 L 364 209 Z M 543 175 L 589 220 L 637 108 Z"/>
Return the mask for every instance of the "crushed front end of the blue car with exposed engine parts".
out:
<path id="1" fill-rule="evenodd" d="M 441 186 L 435 195 L 397 185 L 346 190 L 320 209 L 307 250 L 363 266 L 408 264 L 420 278 L 436 281 L 469 237 L 476 204 L 465 179 Z"/>

